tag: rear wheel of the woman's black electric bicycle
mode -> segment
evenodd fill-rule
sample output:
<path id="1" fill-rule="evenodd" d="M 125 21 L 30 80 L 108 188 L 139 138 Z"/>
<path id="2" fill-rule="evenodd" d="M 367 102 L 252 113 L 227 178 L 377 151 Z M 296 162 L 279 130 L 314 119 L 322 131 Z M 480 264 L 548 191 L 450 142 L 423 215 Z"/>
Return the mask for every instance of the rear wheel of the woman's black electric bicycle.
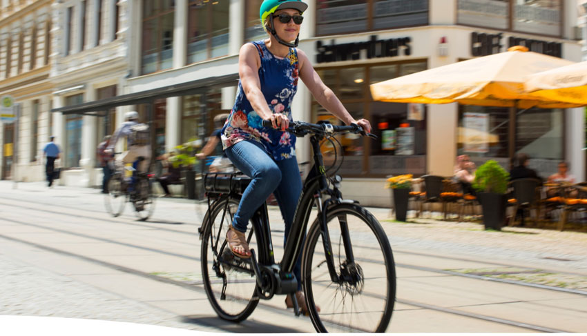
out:
<path id="1" fill-rule="evenodd" d="M 229 210 L 224 216 L 222 222 L 222 213 L 224 206 L 229 203 Z M 241 322 L 247 319 L 253 310 L 255 310 L 259 303 L 259 298 L 256 297 L 256 278 L 247 273 L 236 270 L 235 268 L 227 267 L 218 261 L 218 256 L 222 256 L 227 260 L 231 259 L 232 253 L 226 246 L 226 232 L 229 224 L 232 221 L 232 215 L 238 208 L 238 199 L 220 199 L 215 201 L 209 211 L 204 216 L 204 234 L 202 235 L 202 250 L 200 254 L 202 265 L 202 281 L 204 282 L 204 289 L 212 308 L 221 319 L 231 322 Z M 220 225 L 222 224 L 222 225 Z M 253 225 L 249 222 L 247 230 L 247 237 L 249 237 L 249 247 L 256 248 L 256 235 L 251 235 Z M 220 230 L 220 234 L 218 234 Z M 216 248 L 214 249 L 214 242 L 218 237 Z M 254 237 L 255 240 L 252 238 Z M 238 260 L 238 259 L 232 259 Z M 240 266 L 249 263 L 236 263 Z M 215 267 L 218 268 L 216 272 Z M 221 275 L 221 277 L 219 276 Z M 222 286 L 218 283 L 227 281 L 227 292 L 225 298 L 222 299 Z"/>

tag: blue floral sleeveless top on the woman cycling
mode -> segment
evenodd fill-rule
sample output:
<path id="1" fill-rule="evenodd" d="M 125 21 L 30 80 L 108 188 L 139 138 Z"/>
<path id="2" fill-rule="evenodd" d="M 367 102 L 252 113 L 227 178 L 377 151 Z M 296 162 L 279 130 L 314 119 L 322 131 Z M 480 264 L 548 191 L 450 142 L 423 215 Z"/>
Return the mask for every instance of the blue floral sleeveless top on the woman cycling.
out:
<path id="1" fill-rule="evenodd" d="M 261 58 L 261 92 L 267 100 L 269 109 L 273 113 L 287 115 L 292 121 L 291 101 L 298 91 L 296 48 L 289 48 L 289 55 L 282 59 L 273 56 L 264 41 L 251 43 L 256 46 Z M 239 81 L 234 107 L 222 128 L 222 146 L 227 149 L 242 140 L 260 142 L 276 161 L 296 156 L 296 137 L 289 132 L 263 127 L 261 117 L 253 110 Z"/>

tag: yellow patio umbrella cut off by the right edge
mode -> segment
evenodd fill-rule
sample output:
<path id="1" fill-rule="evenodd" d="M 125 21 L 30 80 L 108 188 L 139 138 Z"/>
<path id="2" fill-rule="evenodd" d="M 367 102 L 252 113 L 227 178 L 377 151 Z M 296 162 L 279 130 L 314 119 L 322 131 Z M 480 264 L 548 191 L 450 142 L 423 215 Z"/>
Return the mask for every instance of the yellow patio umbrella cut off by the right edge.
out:
<path id="1" fill-rule="evenodd" d="M 530 75 L 531 97 L 587 105 L 587 61 Z"/>

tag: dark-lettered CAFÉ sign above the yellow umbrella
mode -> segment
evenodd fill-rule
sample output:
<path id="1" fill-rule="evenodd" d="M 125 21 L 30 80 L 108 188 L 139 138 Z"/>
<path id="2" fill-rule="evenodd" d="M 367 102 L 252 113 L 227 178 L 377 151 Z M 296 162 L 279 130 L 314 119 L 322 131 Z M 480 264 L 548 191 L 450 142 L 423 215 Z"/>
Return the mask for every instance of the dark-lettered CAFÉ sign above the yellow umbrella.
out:
<path id="1" fill-rule="evenodd" d="M 471 33 L 471 55 L 487 56 L 497 54 L 503 50 L 503 33 L 485 34 L 484 32 Z M 548 42 L 538 39 L 523 39 L 521 37 L 508 37 L 508 47 L 525 46 L 528 50 L 539 54 L 562 57 L 562 43 Z"/>

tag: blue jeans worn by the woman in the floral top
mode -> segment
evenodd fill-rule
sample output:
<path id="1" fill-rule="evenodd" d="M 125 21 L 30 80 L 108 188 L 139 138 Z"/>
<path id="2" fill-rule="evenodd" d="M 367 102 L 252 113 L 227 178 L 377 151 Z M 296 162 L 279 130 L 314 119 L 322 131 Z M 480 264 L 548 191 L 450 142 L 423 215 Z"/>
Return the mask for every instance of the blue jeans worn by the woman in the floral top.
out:
<path id="1" fill-rule="evenodd" d="M 251 183 L 242 193 L 242 199 L 236 210 L 233 227 L 241 232 L 247 231 L 249 219 L 264 204 L 271 192 L 278 201 L 283 221 L 285 222 L 284 244 L 289 229 L 294 222 L 298 199 L 302 193 L 302 178 L 296 157 L 274 161 L 273 157 L 256 141 L 240 141 L 224 151 L 234 166 L 251 177 Z M 302 289 L 301 253 L 294 267 L 298 279 L 298 290 Z"/>

